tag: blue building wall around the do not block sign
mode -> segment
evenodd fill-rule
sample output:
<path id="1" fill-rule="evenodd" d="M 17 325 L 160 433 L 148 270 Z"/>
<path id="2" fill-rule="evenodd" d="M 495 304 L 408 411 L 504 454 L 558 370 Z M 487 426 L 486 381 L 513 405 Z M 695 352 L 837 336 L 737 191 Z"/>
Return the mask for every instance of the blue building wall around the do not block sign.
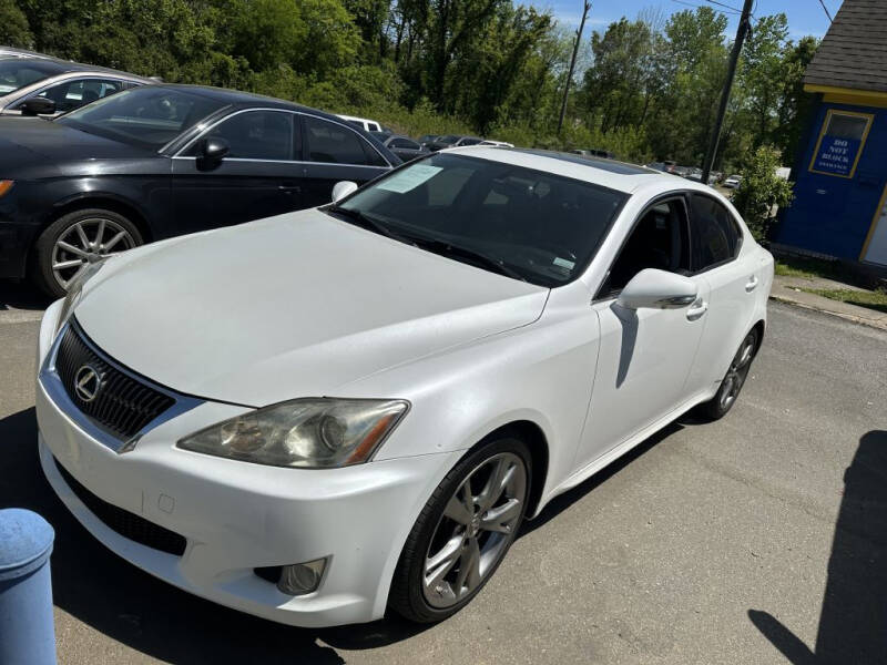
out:
<path id="1" fill-rule="evenodd" d="M 852 178 L 809 171 L 829 109 L 875 116 Z M 794 174 L 795 200 L 783 214 L 774 241 L 856 260 L 887 185 L 887 109 L 823 102 L 810 129 L 798 171 Z"/>

